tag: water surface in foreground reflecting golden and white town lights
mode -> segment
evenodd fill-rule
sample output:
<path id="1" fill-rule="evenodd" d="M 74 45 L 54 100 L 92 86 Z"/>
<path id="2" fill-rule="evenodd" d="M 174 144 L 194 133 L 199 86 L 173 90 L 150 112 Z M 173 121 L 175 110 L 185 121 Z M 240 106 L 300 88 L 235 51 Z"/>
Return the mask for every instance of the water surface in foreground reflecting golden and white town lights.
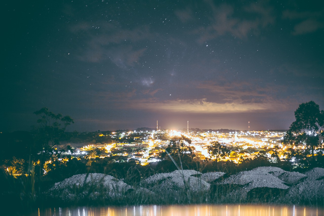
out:
<path id="1" fill-rule="evenodd" d="M 267 205 L 186 205 L 48 208 L 39 216 L 324 216 L 323 209 Z"/>

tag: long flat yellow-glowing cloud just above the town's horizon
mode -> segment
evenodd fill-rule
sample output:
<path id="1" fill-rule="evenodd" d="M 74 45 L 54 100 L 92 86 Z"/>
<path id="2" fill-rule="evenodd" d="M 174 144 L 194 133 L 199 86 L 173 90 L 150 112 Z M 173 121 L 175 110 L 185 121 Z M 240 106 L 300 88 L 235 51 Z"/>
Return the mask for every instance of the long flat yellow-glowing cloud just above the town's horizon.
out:
<path id="1" fill-rule="evenodd" d="M 132 105 L 133 108 L 151 111 L 168 111 L 173 113 L 246 113 L 269 112 L 286 109 L 282 103 L 272 102 L 243 102 L 240 100 L 226 103 L 208 102 L 206 98 L 194 100 L 141 101 Z"/>

